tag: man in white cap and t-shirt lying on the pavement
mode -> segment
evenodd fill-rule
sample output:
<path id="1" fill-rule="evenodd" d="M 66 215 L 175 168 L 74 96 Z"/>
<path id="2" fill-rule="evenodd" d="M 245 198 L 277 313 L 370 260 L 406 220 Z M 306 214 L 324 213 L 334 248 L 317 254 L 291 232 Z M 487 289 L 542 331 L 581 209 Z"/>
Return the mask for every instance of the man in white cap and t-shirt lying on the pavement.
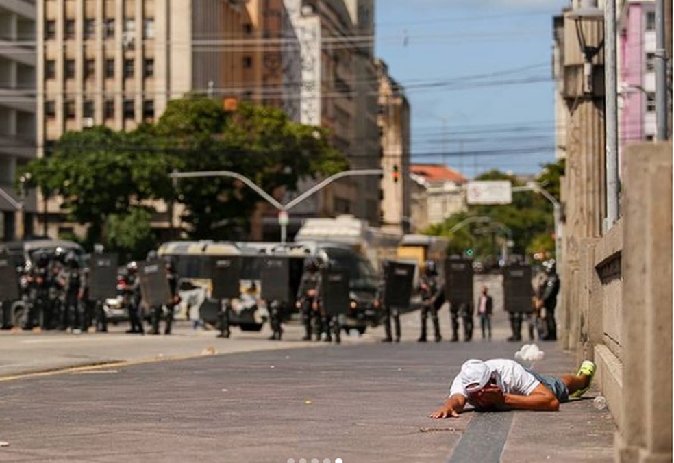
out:
<path id="1" fill-rule="evenodd" d="M 466 361 L 454 378 L 445 405 L 431 418 L 459 416 L 466 402 L 477 410 L 556 411 L 569 397 L 580 397 L 592 383 L 595 364 L 586 360 L 576 375 L 543 376 L 514 360 Z"/>

